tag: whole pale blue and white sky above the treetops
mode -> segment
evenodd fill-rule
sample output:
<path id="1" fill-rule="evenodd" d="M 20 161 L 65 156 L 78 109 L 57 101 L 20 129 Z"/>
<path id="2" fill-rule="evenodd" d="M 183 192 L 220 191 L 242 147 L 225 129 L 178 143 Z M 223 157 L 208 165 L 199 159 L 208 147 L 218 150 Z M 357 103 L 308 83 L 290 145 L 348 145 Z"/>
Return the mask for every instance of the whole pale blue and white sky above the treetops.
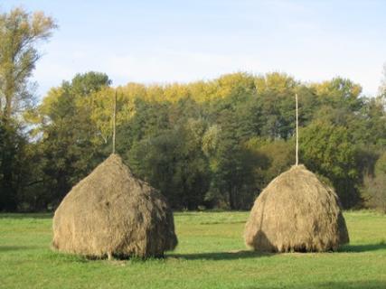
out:
<path id="1" fill-rule="evenodd" d="M 113 85 L 281 71 L 303 81 L 352 79 L 375 95 L 386 63 L 386 1 L 0 0 L 59 24 L 34 80 L 43 96 L 98 70 Z"/>

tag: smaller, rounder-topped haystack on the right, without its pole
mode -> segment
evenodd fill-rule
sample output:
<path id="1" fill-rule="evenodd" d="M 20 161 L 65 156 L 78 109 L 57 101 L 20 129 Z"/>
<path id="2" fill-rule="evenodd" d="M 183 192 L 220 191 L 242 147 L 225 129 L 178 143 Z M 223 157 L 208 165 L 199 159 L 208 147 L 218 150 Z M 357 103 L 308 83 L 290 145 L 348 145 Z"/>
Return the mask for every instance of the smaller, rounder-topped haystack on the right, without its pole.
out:
<path id="1" fill-rule="evenodd" d="M 337 195 L 304 165 L 283 172 L 260 193 L 244 237 L 262 252 L 323 252 L 349 242 Z"/>

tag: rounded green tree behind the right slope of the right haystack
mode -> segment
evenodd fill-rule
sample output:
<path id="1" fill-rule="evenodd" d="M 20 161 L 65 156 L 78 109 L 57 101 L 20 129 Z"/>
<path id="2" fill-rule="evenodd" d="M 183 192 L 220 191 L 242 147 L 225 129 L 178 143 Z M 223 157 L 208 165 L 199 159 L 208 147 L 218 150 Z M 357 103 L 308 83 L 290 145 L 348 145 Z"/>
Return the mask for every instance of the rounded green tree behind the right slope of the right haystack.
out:
<path id="1" fill-rule="evenodd" d="M 344 208 L 357 204 L 360 172 L 350 131 L 328 121 L 316 121 L 301 129 L 299 143 L 301 161 L 334 184 Z"/>

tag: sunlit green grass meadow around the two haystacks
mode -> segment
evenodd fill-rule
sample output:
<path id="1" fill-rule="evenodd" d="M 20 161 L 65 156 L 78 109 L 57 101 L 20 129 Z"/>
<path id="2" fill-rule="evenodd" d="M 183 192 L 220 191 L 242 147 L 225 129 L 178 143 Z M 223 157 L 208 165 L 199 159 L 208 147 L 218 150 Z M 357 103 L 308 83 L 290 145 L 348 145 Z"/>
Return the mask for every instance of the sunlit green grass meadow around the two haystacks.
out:
<path id="1" fill-rule="evenodd" d="M 52 252 L 48 214 L 0 214 L 0 288 L 386 288 L 386 216 L 345 213 L 340 252 L 276 255 L 244 247 L 246 212 L 174 216 L 165 259 L 108 262 Z"/>

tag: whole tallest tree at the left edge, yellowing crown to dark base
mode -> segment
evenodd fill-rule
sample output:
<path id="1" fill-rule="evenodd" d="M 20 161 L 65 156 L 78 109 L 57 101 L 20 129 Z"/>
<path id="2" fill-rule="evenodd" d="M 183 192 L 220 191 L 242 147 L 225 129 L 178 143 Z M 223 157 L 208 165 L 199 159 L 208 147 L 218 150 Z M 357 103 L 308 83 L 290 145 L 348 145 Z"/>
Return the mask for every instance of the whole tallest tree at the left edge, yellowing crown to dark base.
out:
<path id="1" fill-rule="evenodd" d="M 42 12 L 15 8 L 0 14 L 0 210 L 15 210 L 33 178 L 22 113 L 33 105 L 29 79 L 41 57 L 37 45 L 48 40 L 55 27 Z"/>

